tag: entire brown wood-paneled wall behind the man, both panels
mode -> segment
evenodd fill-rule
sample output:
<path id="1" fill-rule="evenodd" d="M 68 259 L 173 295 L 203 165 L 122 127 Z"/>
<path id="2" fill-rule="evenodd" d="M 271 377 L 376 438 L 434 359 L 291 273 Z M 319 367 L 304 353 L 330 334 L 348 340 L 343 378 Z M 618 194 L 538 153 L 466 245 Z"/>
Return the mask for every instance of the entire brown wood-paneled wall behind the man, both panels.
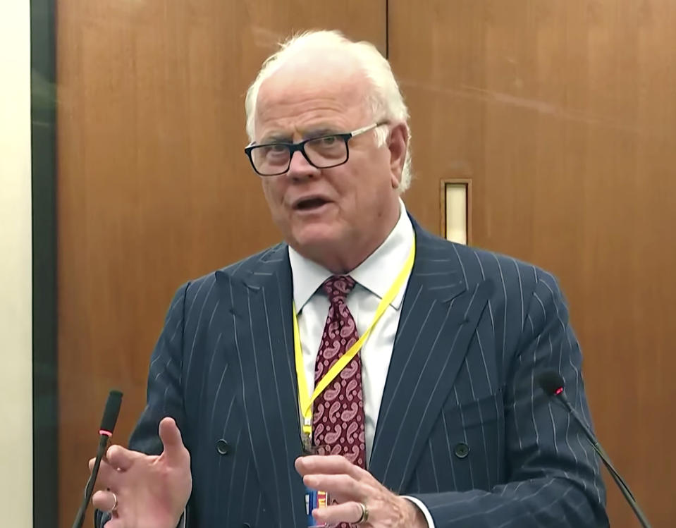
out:
<path id="1" fill-rule="evenodd" d="M 598 436 L 653 523 L 670 525 L 672 4 L 59 4 L 61 527 L 80 500 L 108 389 L 125 391 L 118 441 L 142 409 L 174 290 L 278 240 L 242 153 L 244 94 L 276 42 L 312 27 L 389 47 L 412 114 L 405 200 L 417 219 L 438 232 L 439 181 L 471 178 L 474 244 L 560 277 Z M 637 526 L 609 495 L 613 527 Z"/>

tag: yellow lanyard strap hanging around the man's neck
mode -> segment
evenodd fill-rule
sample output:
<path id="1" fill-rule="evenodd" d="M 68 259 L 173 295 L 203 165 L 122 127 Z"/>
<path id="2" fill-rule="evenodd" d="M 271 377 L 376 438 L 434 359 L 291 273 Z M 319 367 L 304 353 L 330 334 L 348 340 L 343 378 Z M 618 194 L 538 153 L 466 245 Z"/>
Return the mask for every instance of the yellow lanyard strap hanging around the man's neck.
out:
<path id="1" fill-rule="evenodd" d="M 376 315 L 373 321 L 371 321 L 369 328 L 367 329 L 367 331 L 364 332 L 364 334 L 359 338 L 359 340 L 357 340 L 357 343 L 352 345 L 350 347 L 350 350 L 348 350 L 347 352 L 345 352 L 345 354 L 340 356 L 340 359 L 338 359 L 338 361 L 336 361 L 336 363 L 333 364 L 333 367 L 331 367 L 331 369 L 328 369 L 328 372 L 326 372 L 324 377 L 319 380 L 319 383 L 317 383 L 317 386 L 315 386 L 314 393 L 312 393 L 312 396 L 308 395 L 307 393 L 307 381 L 305 381 L 305 368 L 303 367 L 303 352 L 300 346 L 300 332 L 298 331 L 298 319 L 296 317 L 295 303 L 293 304 L 292 307 L 293 350 L 295 352 L 296 359 L 296 375 L 298 376 L 298 400 L 300 402 L 300 412 L 302 412 L 303 415 L 303 424 L 302 424 L 303 433 L 308 437 L 310 434 L 312 434 L 312 403 L 314 403 L 314 400 L 317 399 L 317 397 L 322 393 L 322 391 L 324 391 L 324 389 L 328 387 L 331 381 L 333 381 L 333 379 L 335 379 L 336 376 L 340 374 L 340 371 L 342 371 L 347 366 L 347 364 L 352 360 L 352 358 L 355 357 L 355 355 L 357 355 L 359 350 L 361 350 L 362 345 L 364 345 L 364 341 L 367 340 L 367 338 L 369 337 L 371 330 L 373 330 L 374 326 L 376 326 L 376 323 L 379 321 L 383 313 L 385 313 L 385 310 L 387 309 L 388 305 L 399 293 L 399 290 L 401 289 L 403 283 L 410 275 L 411 269 L 413 268 L 414 257 L 415 257 L 415 240 L 413 240 L 413 243 L 411 245 L 411 251 L 408 254 L 404 266 L 399 272 L 399 275 L 397 276 L 397 278 L 395 278 L 395 281 L 393 282 L 392 286 L 390 287 L 390 289 L 388 290 L 388 292 L 385 294 L 380 304 L 378 305 L 378 308 L 376 309 Z"/>

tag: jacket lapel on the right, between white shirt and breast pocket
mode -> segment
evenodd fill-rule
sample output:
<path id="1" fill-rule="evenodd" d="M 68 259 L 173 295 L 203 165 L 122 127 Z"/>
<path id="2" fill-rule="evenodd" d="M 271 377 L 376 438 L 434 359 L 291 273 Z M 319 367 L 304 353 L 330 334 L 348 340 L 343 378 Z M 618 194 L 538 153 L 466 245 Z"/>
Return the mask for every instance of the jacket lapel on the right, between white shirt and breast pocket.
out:
<path id="1" fill-rule="evenodd" d="M 393 491 L 404 491 L 492 284 L 467 287 L 453 246 L 414 222 L 416 259 L 402 305 L 397 336 L 376 425 L 369 471 Z"/>

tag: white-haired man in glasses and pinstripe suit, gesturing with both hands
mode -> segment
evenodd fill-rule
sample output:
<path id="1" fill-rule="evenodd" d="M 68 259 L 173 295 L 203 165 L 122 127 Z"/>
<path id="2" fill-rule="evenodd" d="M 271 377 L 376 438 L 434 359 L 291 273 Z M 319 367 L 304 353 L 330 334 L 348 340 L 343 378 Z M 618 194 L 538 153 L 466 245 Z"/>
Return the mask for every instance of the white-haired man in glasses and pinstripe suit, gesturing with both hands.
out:
<path id="1" fill-rule="evenodd" d="M 594 451 L 534 383 L 558 370 L 589 419 L 560 290 L 407 214 L 387 61 L 306 33 L 264 63 L 246 110 L 285 242 L 178 290 L 130 450 L 102 465 L 97 522 L 608 524 Z"/>

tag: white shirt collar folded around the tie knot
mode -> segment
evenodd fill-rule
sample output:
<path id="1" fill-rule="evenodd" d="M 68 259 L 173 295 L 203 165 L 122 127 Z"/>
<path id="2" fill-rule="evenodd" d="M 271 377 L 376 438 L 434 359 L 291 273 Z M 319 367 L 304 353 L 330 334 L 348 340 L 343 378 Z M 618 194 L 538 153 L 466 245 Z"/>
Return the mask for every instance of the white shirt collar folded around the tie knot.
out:
<path id="1" fill-rule="evenodd" d="M 359 285 L 381 299 L 397 278 L 414 243 L 412 223 L 406 213 L 404 202 L 400 199 L 399 203 L 399 220 L 391 233 L 362 264 L 359 264 L 349 274 Z M 293 301 L 298 313 L 314 295 L 317 288 L 333 274 L 324 266 L 303 257 L 293 247 L 289 247 L 289 261 L 293 276 Z M 404 293 L 405 288 L 402 287 L 390 303 L 391 307 L 396 310 L 400 308 Z"/>

